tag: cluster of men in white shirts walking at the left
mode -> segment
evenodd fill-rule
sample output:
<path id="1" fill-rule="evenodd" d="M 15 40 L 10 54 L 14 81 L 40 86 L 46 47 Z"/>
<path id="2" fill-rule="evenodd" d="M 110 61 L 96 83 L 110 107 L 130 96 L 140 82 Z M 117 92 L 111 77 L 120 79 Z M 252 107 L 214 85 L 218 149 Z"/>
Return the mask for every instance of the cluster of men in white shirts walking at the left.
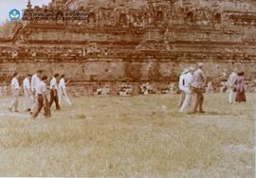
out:
<path id="1" fill-rule="evenodd" d="M 67 106 L 72 106 L 70 99 L 66 93 L 66 77 L 65 75 L 55 74 L 49 82 L 48 78 L 43 74 L 43 70 L 38 70 L 34 75 L 27 75 L 23 80 L 24 91 L 24 110 L 30 112 L 30 115 L 35 118 L 44 108 L 45 116 L 50 117 L 50 107 L 55 102 L 56 110 L 61 110 L 60 103 L 62 100 Z M 47 99 L 47 89 L 50 90 L 50 99 Z M 19 73 L 14 73 L 11 80 L 11 91 L 13 99 L 9 105 L 10 112 L 19 112 L 19 95 L 21 87 L 19 84 Z"/>

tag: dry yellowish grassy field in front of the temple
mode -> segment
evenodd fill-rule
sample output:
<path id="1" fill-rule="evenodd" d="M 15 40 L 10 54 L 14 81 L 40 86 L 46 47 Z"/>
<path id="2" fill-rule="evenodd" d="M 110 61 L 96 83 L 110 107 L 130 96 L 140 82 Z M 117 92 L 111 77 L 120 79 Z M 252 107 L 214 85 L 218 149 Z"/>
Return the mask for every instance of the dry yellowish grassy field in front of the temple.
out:
<path id="1" fill-rule="evenodd" d="M 254 96 L 208 95 L 202 115 L 179 96 L 73 98 L 36 120 L 0 98 L 0 176 L 253 178 Z"/>

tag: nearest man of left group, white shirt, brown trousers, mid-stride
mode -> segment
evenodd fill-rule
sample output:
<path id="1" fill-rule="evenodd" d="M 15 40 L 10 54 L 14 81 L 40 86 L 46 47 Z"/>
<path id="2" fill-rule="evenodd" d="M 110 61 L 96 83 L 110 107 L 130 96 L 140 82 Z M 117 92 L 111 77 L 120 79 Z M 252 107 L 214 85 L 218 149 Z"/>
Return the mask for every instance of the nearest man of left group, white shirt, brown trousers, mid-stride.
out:
<path id="1" fill-rule="evenodd" d="M 37 87 L 36 94 L 37 94 L 37 105 L 38 105 L 38 107 L 37 107 L 36 112 L 32 114 L 33 118 L 36 118 L 43 108 L 45 110 L 45 116 L 46 117 L 50 116 L 50 110 L 49 110 L 49 108 L 47 108 L 46 80 L 47 80 L 47 77 L 43 76 L 42 80 L 40 81 L 40 83 Z M 48 110 L 48 111 L 46 111 L 46 110 Z"/>

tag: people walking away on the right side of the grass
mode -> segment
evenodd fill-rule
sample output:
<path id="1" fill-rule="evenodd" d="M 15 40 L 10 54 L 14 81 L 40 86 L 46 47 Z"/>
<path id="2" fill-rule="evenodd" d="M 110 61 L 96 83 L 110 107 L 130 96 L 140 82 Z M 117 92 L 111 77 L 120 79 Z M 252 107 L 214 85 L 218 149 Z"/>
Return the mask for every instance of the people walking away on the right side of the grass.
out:
<path id="1" fill-rule="evenodd" d="M 191 104 L 192 96 L 194 96 L 194 104 L 192 114 L 205 113 L 203 110 L 204 93 L 206 92 L 207 77 L 203 71 L 204 64 L 198 63 L 197 68 L 185 68 L 179 77 L 179 89 L 181 98 L 179 102 L 179 112 L 183 113 Z M 244 72 L 237 72 L 234 69 L 228 79 L 229 85 L 229 103 L 234 100 L 236 102 L 246 102 Z"/>

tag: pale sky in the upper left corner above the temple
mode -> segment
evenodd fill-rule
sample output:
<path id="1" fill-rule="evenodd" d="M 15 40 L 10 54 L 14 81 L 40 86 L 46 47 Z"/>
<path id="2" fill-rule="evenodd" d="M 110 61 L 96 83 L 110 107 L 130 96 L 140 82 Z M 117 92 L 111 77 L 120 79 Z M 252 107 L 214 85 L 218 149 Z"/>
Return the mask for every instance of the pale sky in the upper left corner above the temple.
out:
<path id="1" fill-rule="evenodd" d="M 51 0 L 30 0 L 32 6 L 47 5 Z M 0 0 L 0 24 L 9 20 L 9 11 L 18 9 L 22 14 L 22 9 L 27 6 L 27 0 Z"/>

